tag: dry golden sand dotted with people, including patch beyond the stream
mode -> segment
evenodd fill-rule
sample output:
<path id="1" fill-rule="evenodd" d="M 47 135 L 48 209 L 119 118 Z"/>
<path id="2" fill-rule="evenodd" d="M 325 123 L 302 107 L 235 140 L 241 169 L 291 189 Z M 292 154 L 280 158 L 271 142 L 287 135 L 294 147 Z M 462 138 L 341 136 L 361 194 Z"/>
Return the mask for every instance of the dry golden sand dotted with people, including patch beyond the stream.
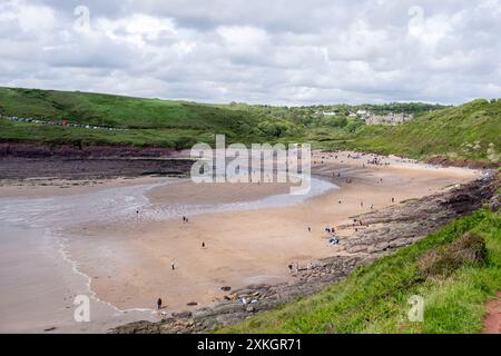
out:
<path id="1" fill-rule="evenodd" d="M 291 280 L 291 261 L 304 266 L 344 254 L 343 239 L 353 231 L 340 231 L 341 245 L 330 247 L 325 227 L 350 222 L 350 217 L 370 211 L 371 206 L 390 206 L 392 197 L 399 204 L 478 176 L 468 169 L 438 169 L 397 159 L 386 159 L 390 166 L 364 165 L 367 159 L 348 159 L 347 152 L 337 159 L 316 154 L 314 172 L 340 189 L 295 206 L 189 216 L 189 224 L 180 218 L 87 224 L 68 231 L 73 236 L 68 246 L 102 299 L 119 308 L 153 308 L 161 297 L 166 310 L 186 309 L 190 301 L 208 305 L 223 298 L 223 286 Z M 287 188 L 250 186 L 183 181 L 155 188 L 147 196 L 155 204 L 189 205 L 258 199 Z"/>

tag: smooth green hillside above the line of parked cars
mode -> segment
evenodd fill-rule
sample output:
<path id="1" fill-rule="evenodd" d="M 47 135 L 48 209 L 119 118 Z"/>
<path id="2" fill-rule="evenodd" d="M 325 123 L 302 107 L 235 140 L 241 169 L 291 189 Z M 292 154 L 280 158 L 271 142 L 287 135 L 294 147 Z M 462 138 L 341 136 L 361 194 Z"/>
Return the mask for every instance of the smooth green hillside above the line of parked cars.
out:
<path id="1" fill-rule="evenodd" d="M 129 129 L 245 129 L 248 112 L 210 105 L 122 96 L 0 88 L 0 115 Z"/>

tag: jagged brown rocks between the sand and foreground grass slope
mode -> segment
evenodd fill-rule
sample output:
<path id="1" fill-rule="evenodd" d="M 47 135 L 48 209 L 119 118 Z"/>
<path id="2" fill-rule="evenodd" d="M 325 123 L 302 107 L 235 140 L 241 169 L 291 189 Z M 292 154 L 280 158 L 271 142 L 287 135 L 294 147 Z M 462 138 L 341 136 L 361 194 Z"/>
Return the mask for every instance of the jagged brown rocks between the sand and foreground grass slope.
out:
<path id="1" fill-rule="evenodd" d="M 238 290 L 229 289 L 227 300 L 219 301 L 214 307 L 173 313 L 158 323 L 131 323 L 115 328 L 111 333 L 200 333 L 216 325 L 229 325 L 255 313 L 269 310 L 299 296 L 312 295 L 328 284 L 345 278 L 355 267 L 413 244 L 452 219 L 482 207 L 499 209 L 499 178 L 491 171 L 482 179 L 448 191 L 354 217 L 367 228 L 344 241 L 351 255 L 322 259 L 313 268 L 299 270 L 295 283 L 273 286 L 259 284 Z M 244 304 L 243 299 L 252 303 Z"/>

